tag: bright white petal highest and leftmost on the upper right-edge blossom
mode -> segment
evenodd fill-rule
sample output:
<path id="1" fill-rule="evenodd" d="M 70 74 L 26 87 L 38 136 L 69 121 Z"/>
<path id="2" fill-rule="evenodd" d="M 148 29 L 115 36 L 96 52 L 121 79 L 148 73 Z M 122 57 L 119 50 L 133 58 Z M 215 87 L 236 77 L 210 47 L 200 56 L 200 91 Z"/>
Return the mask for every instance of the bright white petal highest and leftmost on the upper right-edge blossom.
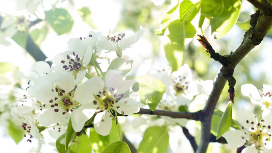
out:
<path id="1" fill-rule="evenodd" d="M 253 104 L 262 104 L 261 96 L 258 89 L 252 84 L 245 84 L 241 86 L 241 91 L 244 96 L 251 99 Z"/>

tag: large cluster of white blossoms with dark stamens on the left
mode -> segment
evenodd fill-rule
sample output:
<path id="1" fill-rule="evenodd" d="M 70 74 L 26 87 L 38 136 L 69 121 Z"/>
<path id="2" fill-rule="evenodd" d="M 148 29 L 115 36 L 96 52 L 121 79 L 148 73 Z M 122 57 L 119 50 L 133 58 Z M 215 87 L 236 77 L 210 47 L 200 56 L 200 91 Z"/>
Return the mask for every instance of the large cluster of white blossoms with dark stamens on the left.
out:
<path id="1" fill-rule="evenodd" d="M 34 138 L 39 141 L 36 152 L 45 143 L 45 129 L 57 139 L 65 133 L 70 120 L 75 132 L 92 124 L 98 134 L 106 136 L 118 115 L 139 111 L 136 100 L 129 97 L 136 81 L 126 80 L 118 69 L 102 71 L 96 59 L 103 50 L 114 50 L 121 57 L 122 51 L 142 34 L 142 27 L 132 35 L 89 32 L 87 37 L 71 38 L 68 50 L 57 54 L 52 66 L 42 61 L 32 65 L 30 73 L 23 77 L 27 80 L 26 99 L 15 103 L 11 114 L 22 121 L 29 142 Z"/>

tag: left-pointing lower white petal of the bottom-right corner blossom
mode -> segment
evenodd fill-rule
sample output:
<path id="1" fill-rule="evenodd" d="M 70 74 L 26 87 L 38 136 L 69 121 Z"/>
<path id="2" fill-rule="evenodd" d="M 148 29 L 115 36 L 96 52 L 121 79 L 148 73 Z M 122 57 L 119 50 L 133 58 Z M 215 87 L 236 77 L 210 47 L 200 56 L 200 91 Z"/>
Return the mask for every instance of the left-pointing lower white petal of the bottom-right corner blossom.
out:
<path id="1" fill-rule="evenodd" d="M 248 135 L 245 135 L 240 130 L 227 131 L 223 134 L 223 137 L 227 140 L 228 144 L 233 148 L 241 147 L 245 140 L 248 139 Z"/>

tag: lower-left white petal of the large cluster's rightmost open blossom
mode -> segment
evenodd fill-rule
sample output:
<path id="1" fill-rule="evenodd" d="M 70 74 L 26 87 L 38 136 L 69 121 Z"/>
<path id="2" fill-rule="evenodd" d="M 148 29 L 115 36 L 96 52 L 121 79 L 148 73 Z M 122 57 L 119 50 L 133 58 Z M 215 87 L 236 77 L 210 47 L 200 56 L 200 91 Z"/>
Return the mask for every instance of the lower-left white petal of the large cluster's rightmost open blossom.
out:
<path id="1" fill-rule="evenodd" d="M 77 110 L 72 112 L 71 121 L 73 130 L 80 132 L 87 120 L 89 120 L 96 110 L 95 105 L 84 104 L 80 106 Z"/>

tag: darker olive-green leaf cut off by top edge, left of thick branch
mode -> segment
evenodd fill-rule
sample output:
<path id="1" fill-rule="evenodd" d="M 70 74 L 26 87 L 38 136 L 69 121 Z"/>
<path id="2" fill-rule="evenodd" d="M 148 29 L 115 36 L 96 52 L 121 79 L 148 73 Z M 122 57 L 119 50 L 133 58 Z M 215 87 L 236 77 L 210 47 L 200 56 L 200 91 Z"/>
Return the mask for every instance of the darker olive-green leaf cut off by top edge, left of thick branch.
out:
<path id="1" fill-rule="evenodd" d="M 240 6 L 241 0 L 202 0 L 201 14 L 210 19 L 212 31 L 216 31 Z"/>

